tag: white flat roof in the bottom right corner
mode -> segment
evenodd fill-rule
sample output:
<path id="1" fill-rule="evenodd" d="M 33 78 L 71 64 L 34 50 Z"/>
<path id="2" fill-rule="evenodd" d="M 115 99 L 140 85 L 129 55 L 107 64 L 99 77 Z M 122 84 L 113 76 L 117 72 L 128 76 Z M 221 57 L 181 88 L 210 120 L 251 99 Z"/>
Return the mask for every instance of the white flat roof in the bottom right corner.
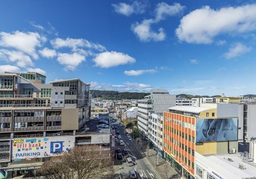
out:
<path id="1" fill-rule="evenodd" d="M 256 167 L 245 163 L 241 158 L 240 154 L 234 153 L 224 153 L 224 154 L 215 154 L 215 155 L 204 155 L 212 161 L 216 163 L 216 165 L 221 166 L 223 169 L 228 170 L 230 173 L 241 177 L 241 178 L 252 178 L 256 177 Z M 232 159 L 229 161 L 228 158 Z M 242 164 L 246 169 L 238 168 L 239 164 Z"/>

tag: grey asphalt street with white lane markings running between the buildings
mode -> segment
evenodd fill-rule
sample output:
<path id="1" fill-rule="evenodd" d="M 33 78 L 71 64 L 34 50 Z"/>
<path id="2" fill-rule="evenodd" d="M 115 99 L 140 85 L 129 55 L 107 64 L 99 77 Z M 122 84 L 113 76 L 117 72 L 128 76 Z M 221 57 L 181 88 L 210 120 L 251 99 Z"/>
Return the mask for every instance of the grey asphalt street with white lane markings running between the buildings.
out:
<path id="1" fill-rule="evenodd" d="M 117 125 L 117 129 L 115 131 L 119 131 L 122 137 L 122 140 L 124 141 L 125 145 L 120 146 L 117 143 L 115 143 L 115 148 L 127 148 L 129 150 L 130 157 L 135 161 L 137 165 L 134 166 L 128 166 L 126 164 L 126 161 L 124 160 L 122 162 L 122 169 L 118 170 L 118 179 L 126 179 L 129 177 L 129 170 L 135 170 L 137 172 L 137 178 L 147 178 L 147 179 L 159 179 L 161 178 L 159 174 L 156 172 L 155 168 L 149 163 L 149 161 L 145 158 L 145 156 L 142 156 L 139 152 L 137 146 L 134 144 L 134 141 L 129 141 L 124 133 L 124 129 L 119 124 Z M 118 140 L 119 141 L 119 140 Z"/>

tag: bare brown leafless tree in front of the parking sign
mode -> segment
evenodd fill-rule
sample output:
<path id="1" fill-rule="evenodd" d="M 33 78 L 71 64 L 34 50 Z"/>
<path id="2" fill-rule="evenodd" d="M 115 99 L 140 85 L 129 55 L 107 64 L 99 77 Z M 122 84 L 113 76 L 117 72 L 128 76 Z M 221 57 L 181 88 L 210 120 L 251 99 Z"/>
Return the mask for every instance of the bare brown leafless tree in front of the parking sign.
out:
<path id="1" fill-rule="evenodd" d="M 103 151 L 98 145 L 83 145 L 51 157 L 39 173 L 50 179 L 101 178 L 112 171 L 112 165 L 110 151 Z"/>

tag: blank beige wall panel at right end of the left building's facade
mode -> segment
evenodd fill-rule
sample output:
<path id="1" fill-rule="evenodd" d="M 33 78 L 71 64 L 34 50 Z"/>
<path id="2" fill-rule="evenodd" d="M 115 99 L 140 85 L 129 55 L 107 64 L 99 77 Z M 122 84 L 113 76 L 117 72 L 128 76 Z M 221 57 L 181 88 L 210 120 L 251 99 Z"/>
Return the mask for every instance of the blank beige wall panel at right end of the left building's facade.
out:
<path id="1" fill-rule="evenodd" d="M 61 130 L 79 130 L 79 109 L 61 109 Z"/>

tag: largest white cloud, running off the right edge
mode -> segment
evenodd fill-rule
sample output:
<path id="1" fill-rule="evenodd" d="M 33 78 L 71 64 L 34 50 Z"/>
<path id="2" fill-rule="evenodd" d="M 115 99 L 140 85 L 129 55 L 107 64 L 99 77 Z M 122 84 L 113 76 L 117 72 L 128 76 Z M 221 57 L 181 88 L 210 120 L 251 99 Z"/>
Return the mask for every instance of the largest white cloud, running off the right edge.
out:
<path id="1" fill-rule="evenodd" d="M 204 6 L 183 16 L 177 38 L 187 43 L 209 44 L 220 34 L 238 34 L 256 29 L 256 4 L 224 7 Z"/>

